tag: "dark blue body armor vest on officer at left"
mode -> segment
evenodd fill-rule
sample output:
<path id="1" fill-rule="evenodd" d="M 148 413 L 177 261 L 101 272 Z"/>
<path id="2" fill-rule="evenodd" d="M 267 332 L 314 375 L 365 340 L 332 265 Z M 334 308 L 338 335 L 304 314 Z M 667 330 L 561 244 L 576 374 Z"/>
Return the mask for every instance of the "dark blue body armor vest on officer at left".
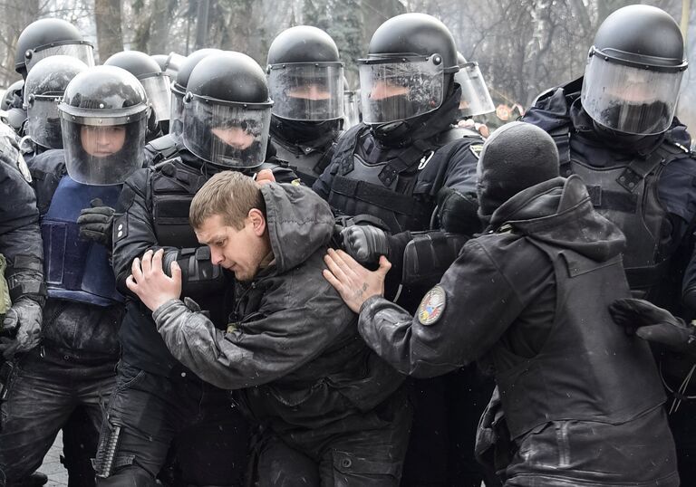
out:
<path id="1" fill-rule="evenodd" d="M 82 185 L 63 176 L 41 220 L 43 268 L 48 296 L 111 306 L 123 301 L 109 262 L 108 250 L 100 243 L 80 237 L 77 218 L 94 198 L 115 206 L 121 185 Z"/>

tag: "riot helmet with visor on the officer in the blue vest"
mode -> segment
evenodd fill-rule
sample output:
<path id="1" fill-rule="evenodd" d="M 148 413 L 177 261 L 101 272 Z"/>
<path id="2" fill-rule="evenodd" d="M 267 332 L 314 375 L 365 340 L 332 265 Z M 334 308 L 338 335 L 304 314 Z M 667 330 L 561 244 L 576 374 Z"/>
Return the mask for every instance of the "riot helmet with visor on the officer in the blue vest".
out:
<path id="1" fill-rule="evenodd" d="M 68 83 L 58 105 L 68 175 L 78 183 L 121 184 L 142 167 L 150 105 L 140 81 L 97 66 Z"/>

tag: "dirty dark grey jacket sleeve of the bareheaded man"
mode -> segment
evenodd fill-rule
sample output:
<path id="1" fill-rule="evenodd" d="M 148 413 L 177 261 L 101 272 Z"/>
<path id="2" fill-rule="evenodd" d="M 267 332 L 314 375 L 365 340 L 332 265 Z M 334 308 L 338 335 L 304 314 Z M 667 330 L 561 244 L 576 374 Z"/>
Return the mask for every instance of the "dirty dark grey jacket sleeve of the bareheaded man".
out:
<path id="1" fill-rule="evenodd" d="M 175 358 L 217 387 L 251 387 L 283 377 L 355 326 L 355 315 L 322 276 L 324 252 L 272 280 L 255 320 L 231 333 L 179 300 L 155 310 L 157 329 Z"/>

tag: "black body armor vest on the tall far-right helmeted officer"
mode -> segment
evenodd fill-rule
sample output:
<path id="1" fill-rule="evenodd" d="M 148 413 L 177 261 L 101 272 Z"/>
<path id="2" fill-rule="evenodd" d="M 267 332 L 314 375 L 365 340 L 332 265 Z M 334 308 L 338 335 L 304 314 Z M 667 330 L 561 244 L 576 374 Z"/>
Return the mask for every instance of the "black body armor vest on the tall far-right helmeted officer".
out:
<path id="1" fill-rule="evenodd" d="M 635 298 L 646 298 L 652 286 L 669 268 L 672 225 L 658 196 L 662 170 L 672 160 L 689 155 L 666 142 L 645 158 L 596 167 L 577 156 L 570 146 L 567 128 L 551 134 L 560 155 L 560 174 L 583 178 L 594 209 L 616 224 L 626 236 L 623 266 Z"/>

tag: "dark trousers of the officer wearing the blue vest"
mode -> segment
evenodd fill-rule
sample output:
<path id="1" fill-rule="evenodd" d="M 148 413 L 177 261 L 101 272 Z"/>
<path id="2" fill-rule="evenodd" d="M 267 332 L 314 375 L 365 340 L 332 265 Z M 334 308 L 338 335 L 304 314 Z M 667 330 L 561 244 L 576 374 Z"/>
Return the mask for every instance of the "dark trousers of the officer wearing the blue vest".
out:
<path id="1" fill-rule="evenodd" d="M 41 465 L 63 428 L 69 485 L 94 485 L 90 458 L 96 453 L 102 405 L 116 382 L 115 363 L 77 363 L 52 349 L 43 352 L 42 357 L 34 349 L 21 357 L 10 377 L 2 405 L 0 471 L 8 487 L 21 483 Z"/>

